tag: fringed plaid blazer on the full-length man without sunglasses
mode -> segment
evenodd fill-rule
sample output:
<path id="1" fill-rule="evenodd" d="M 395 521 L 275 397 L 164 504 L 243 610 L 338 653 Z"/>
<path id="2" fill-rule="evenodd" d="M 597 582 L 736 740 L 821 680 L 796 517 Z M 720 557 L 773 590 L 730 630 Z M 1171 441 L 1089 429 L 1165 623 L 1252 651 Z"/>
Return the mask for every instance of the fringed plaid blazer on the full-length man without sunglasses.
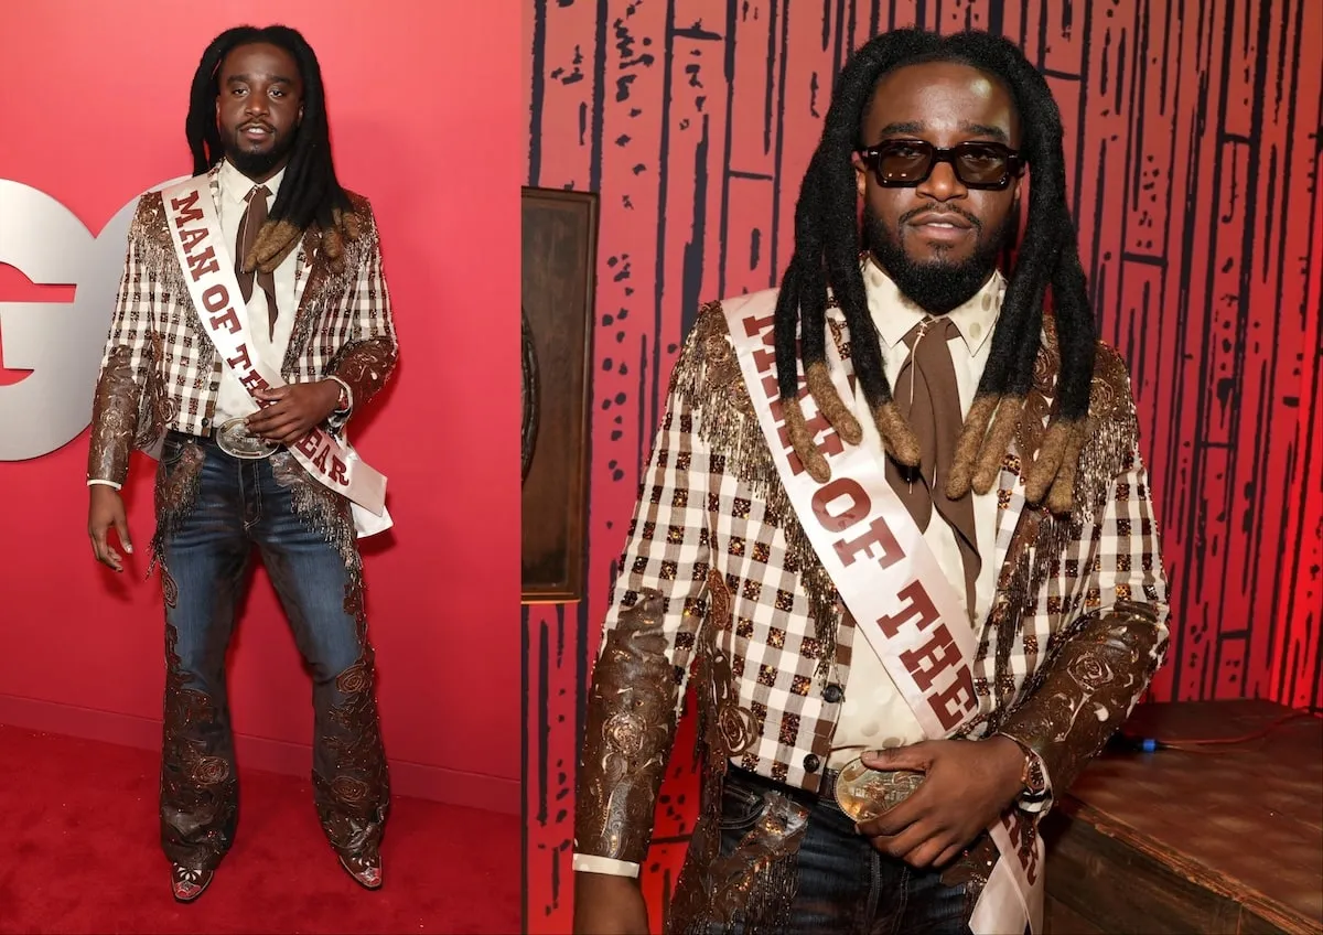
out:
<path id="1" fill-rule="evenodd" d="M 206 173 L 217 200 L 218 168 Z M 398 346 L 376 218 L 366 198 L 348 194 L 361 234 L 344 242 L 344 270 L 331 268 L 315 227 L 296 249 L 295 321 L 280 374 L 286 382 L 333 374 L 359 409 L 390 377 Z M 123 484 L 132 448 L 151 447 L 165 430 L 210 435 L 220 381 L 221 361 L 193 308 L 161 194 L 144 194 L 97 385 L 89 480 Z"/>

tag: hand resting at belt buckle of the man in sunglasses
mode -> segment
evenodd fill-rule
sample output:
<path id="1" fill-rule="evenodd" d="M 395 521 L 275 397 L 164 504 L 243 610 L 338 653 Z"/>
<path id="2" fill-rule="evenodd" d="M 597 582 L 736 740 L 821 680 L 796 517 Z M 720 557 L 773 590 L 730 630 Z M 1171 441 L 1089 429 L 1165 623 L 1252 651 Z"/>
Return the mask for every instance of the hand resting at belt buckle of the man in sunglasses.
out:
<path id="1" fill-rule="evenodd" d="M 910 866 L 943 866 L 1000 817 L 1021 791 L 1024 751 L 1005 737 L 986 741 L 925 741 L 864 754 L 873 770 L 926 774 L 909 799 L 861 821 L 873 846 Z"/>

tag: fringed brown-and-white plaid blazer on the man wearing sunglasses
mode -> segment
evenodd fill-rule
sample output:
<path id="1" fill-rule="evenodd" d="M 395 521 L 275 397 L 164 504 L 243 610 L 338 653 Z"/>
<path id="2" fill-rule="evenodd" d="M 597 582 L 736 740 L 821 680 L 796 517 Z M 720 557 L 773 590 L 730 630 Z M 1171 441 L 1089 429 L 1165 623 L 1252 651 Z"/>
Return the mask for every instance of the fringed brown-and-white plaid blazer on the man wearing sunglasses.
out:
<path id="1" fill-rule="evenodd" d="M 831 332 L 852 374 L 839 309 Z M 1060 369 L 1050 325 L 999 481 L 998 590 L 972 660 L 979 713 L 1039 752 L 1056 790 L 1122 723 L 1167 644 L 1167 586 L 1126 366 L 1099 344 L 1070 516 L 1025 504 Z M 720 303 L 671 378 L 589 697 L 576 852 L 642 862 L 691 664 L 722 754 L 815 791 L 849 674 L 853 622 L 773 466 Z M 726 661 L 729 663 L 726 665 Z M 1076 717 L 1086 705 L 1102 705 Z"/>

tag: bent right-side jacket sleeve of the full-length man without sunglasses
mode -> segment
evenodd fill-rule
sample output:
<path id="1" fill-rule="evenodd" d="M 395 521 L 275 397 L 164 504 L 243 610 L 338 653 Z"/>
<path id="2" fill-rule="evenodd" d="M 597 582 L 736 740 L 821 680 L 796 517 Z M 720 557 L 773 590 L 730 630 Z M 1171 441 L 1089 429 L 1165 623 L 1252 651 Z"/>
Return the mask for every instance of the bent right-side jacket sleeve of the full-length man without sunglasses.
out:
<path id="1" fill-rule="evenodd" d="M 363 218 L 357 274 L 345 302 L 349 304 L 352 329 L 349 340 L 331 362 L 329 374 L 349 385 L 353 410 L 361 409 L 386 385 L 396 369 L 400 346 L 390 311 L 390 290 L 381 268 L 381 241 L 377 222 L 366 198 L 353 196 L 355 213 Z"/>

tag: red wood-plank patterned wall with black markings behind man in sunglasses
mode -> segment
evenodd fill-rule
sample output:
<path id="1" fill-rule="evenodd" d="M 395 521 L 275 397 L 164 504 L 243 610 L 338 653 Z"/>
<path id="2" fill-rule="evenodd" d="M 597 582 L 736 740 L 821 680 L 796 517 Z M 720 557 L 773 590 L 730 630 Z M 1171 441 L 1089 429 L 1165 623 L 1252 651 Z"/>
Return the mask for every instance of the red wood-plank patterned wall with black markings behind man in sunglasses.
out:
<path id="1" fill-rule="evenodd" d="M 1102 333 L 1130 362 L 1174 583 L 1158 698 L 1323 708 L 1315 0 L 534 0 L 527 177 L 602 193 L 589 599 L 525 611 L 527 910 L 565 931 L 583 680 L 677 343 L 700 300 L 777 282 L 852 48 L 991 29 L 1066 126 Z M 684 741 L 681 741 L 684 743 Z M 675 758 L 647 869 L 688 829 Z M 654 913 L 660 899 L 652 901 Z"/>

